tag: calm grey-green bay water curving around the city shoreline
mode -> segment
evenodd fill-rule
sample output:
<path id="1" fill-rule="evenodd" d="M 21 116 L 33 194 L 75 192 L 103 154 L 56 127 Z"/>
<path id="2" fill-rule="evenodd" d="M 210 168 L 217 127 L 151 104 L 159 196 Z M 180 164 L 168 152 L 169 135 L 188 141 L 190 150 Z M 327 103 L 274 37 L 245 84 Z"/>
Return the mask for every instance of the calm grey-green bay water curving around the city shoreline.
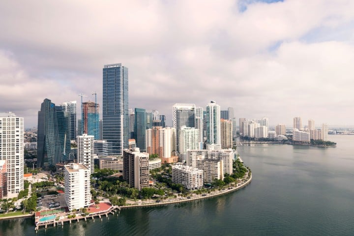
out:
<path id="1" fill-rule="evenodd" d="M 33 219 L 0 221 L 0 236 L 354 235 L 354 136 L 336 148 L 238 147 L 253 180 L 234 193 L 195 202 L 123 209 L 102 222 L 34 231 Z"/>

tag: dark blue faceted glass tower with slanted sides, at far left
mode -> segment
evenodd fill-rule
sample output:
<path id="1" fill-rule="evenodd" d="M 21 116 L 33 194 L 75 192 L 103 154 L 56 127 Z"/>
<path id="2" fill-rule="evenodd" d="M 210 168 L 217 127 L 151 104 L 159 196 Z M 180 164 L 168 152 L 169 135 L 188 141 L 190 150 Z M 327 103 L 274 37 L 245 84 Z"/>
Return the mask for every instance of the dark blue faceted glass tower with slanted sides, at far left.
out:
<path id="1" fill-rule="evenodd" d="M 37 167 L 49 167 L 62 160 L 55 104 L 48 98 L 38 111 Z"/>

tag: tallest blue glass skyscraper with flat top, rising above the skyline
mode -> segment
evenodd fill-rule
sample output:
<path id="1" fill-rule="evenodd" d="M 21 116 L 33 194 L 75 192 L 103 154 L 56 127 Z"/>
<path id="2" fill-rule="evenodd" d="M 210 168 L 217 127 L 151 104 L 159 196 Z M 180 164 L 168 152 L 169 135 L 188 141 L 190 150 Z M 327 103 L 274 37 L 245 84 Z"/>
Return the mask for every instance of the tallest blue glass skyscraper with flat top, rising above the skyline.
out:
<path id="1" fill-rule="evenodd" d="M 103 67 L 102 139 L 112 143 L 112 153 L 128 147 L 128 68 L 119 64 Z"/>

